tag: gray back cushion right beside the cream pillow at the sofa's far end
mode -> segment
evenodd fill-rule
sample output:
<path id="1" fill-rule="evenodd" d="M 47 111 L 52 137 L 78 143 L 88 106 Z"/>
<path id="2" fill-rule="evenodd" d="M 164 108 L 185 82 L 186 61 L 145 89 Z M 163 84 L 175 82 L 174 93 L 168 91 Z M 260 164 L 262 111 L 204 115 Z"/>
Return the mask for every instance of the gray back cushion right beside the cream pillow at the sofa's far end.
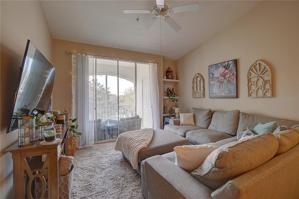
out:
<path id="1" fill-rule="evenodd" d="M 208 128 L 211 120 L 213 112 L 210 109 L 199 109 L 199 108 L 192 108 L 192 113 L 194 113 L 194 123 L 196 126 L 202 128 Z"/>

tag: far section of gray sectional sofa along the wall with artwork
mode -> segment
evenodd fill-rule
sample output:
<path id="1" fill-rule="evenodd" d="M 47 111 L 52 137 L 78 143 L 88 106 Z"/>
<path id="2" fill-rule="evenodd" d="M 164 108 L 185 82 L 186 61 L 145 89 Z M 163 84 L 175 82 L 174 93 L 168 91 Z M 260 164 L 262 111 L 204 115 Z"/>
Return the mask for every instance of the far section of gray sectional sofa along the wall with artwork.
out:
<path id="1" fill-rule="evenodd" d="M 262 117 L 240 113 L 239 110 L 214 111 L 192 108 L 195 125 L 179 125 L 180 119 L 170 119 L 164 130 L 185 137 L 196 145 L 216 142 L 221 145 L 237 141 L 237 134 L 244 128 L 252 130 L 260 122 L 265 124 L 276 121 L 277 126 L 293 126 L 299 121 Z"/>

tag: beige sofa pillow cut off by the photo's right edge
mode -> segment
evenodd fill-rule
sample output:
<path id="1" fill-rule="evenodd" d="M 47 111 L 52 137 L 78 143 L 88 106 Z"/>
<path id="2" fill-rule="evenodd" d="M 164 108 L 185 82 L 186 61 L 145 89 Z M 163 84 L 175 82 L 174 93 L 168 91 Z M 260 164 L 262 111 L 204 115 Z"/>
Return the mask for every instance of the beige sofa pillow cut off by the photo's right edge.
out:
<path id="1" fill-rule="evenodd" d="M 278 149 L 275 155 L 282 154 L 299 143 L 299 131 L 297 129 L 292 128 L 273 134 L 278 140 Z"/>

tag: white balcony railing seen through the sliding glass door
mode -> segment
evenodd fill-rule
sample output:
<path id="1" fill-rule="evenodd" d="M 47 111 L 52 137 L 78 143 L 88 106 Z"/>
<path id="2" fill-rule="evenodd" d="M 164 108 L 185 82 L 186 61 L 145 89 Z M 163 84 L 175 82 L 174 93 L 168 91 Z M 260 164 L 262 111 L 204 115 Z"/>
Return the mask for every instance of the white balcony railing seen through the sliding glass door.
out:
<path id="1" fill-rule="evenodd" d="M 119 118 L 129 117 L 130 113 L 135 113 L 135 105 L 120 105 L 119 106 Z M 97 119 L 115 119 L 118 120 L 118 106 L 90 106 L 89 107 L 89 120 L 95 120 L 95 114 Z"/>

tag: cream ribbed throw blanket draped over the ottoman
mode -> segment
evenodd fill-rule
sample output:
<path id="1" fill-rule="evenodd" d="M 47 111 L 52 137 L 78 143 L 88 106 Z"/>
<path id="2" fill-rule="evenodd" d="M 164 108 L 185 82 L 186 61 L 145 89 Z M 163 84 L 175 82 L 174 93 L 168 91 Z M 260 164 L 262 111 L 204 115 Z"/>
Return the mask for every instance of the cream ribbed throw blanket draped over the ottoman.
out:
<path id="1" fill-rule="evenodd" d="M 129 159 L 133 169 L 138 169 L 138 152 L 149 145 L 153 136 L 154 130 L 152 128 L 121 133 L 115 142 L 114 150 L 122 151 Z"/>

